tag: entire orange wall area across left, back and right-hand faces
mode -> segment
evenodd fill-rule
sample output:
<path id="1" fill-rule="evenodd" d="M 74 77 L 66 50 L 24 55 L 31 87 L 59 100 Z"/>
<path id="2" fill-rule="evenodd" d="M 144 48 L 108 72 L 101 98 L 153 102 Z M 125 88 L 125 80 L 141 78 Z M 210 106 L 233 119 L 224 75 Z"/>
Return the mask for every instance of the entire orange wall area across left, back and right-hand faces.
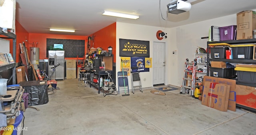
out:
<path id="1" fill-rule="evenodd" d="M 113 48 L 112 54 L 114 54 L 114 62 L 116 61 L 116 22 L 109 26 L 90 35 L 94 36 L 94 48 L 102 48 L 108 50 L 108 47 Z M 72 40 L 85 40 L 85 54 L 87 53 L 87 41 L 88 36 L 74 36 L 74 35 L 57 35 L 57 34 L 40 34 L 40 33 L 28 33 L 18 21 L 16 21 L 16 62 L 20 60 L 20 43 L 24 42 L 26 47 L 38 47 L 40 48 L 39 59 L 46 58 L 46 38 L 54 39 L 72 39 Z M 27 40 L 27 42 L 25 41 Z M 12 53 L 12 40 L 10 40 L 10 51 Z M 34 42 L 34 45 L 33 45 Z M 38 43 L 38 44 L 36 44 Z M 90 47 L 93 46 L 91 40 Z M 28 53 L 30 53 L 28 51 Z M 30 54 L 28 54 L 30 56 Z M 76 58 L 65 58 L 76 59 Z"/>

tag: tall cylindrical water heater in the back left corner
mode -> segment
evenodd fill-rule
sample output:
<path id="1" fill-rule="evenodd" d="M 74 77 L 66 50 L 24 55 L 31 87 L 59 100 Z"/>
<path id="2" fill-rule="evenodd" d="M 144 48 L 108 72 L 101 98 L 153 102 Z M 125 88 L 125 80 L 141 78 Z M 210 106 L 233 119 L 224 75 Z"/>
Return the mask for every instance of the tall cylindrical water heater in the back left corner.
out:
<path id="1" fill-rule="evenodd" d="M 39 48 L 30 47 L 30 62 L 35 69 L 39 69 Z"/>

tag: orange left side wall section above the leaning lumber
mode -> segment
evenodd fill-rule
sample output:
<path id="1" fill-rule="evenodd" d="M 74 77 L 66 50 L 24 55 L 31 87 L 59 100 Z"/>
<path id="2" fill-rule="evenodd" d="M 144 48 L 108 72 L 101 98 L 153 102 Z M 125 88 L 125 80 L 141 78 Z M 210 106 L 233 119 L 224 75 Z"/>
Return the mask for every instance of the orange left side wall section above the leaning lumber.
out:
<path id="1" fill-rule="evenodd" d="M 16 62 L 21 62 L 20 43 L 25 42 L 25 40 L 28 40 L 28 32 L 20 25 L 18 21 L 15 21 L 15 27 L 16 27 Z M 13 46 L 13 42 L 12 40 L 10 40 L 10 53 L 13 56 L 12 46 Z"/>

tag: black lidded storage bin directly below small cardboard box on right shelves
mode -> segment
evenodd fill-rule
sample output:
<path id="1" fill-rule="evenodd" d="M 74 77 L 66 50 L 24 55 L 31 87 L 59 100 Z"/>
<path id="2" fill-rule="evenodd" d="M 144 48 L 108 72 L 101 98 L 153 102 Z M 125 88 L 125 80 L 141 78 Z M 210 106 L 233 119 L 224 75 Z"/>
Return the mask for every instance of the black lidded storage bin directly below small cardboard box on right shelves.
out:
<path id="1" fill-rule="evenodd" d="M 220 77 L 220 78 L 234 78 L 236 76 L 236 71 L 234 67 L 231 67 L 231 68 L 210 67 L 210 76 Z"/>

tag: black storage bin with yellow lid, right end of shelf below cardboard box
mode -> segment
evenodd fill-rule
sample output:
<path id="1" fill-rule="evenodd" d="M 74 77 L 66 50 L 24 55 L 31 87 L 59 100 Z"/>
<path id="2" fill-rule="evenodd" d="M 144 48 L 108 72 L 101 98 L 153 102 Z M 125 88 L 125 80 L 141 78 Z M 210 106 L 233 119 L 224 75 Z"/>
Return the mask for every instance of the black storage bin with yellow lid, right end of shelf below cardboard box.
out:
<path id="1" fill-rule="evenodd" d="M 233 59 L 252 59 L 254 45 L 230 46 L 233 50 Z"/>

